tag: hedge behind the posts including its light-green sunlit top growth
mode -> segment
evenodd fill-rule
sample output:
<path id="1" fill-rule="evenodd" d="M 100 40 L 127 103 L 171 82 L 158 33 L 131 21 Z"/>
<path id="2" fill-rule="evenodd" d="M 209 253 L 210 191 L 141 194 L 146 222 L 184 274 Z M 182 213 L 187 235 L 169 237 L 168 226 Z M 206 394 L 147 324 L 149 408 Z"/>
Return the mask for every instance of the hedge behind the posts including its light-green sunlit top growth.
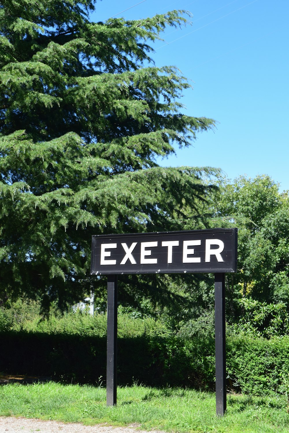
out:
<path id="1" fill-rule="evenodd" d="M 255 324 L 253 330 L 247 326 L 247 317 L 244 331 L 239 334 L 232 326 L 227 326 L 227 389 L 254 395 L 285 395 L 289 337 L 262 337 L 268 336 L 269 326 L 263 325 L 264 330 L 260 332 L 256 321 L 263 320 L 264 323 L 272 316 L 273 307 L 259 305 L 257 317 L 255 304 L 251 301 L 251 310 L 248 308 L 247 311 L 251 323 Z M 69 383 L 72 380 L 95 384 L 102 376 L 105 383 L 106 314 L 90 317 L 79 310 L 63 315 L 55 311 L 49 319 L 43 320 L 39 309 L 38 313 L 36 308 L 33 311 L 32 305 L 28 318 L 25 308 L 21 309 L 18 303 L 10 309 L 0 310 L 1 343 L 3 347 L 9 347 L 2 353 L 0 371 L 50 376 Z M 5 316 L 7 312 L 9 315 Z M 136 317 L 121 308 L 118 315 L 118 383 L 127 385 L 139 381 L 146 385 L 214 389 L 213 332 L 209 315 L 189 321 L 186 326 L 184 322 L 178 332 L 172 332 L 164 320 Z"/>

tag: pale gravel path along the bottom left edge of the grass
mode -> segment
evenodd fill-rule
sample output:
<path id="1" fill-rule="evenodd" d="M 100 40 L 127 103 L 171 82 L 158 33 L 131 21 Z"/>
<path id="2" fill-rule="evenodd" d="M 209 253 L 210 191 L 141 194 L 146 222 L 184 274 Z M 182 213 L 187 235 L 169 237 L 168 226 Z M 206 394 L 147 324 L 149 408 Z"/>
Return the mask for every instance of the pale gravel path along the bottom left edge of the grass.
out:
<path id="1" fill-rule="evenodd" d="M 27 418 L 0 417 L 0 433 L 147 433 L 136 430 L 138 424 L 130 427 L 112 427 L 109 425 L 84 426 L 80 423 L 61 423 Z M 165 433 L 151 430 L 149 433 Z"/>

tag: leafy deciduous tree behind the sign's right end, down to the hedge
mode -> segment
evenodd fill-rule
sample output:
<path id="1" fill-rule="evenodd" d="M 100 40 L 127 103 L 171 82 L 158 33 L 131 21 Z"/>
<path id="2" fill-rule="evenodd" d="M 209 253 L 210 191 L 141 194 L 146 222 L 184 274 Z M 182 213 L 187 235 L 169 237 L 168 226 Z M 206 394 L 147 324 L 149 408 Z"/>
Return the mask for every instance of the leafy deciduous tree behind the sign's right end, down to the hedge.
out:
<path id="1" fill-rule="evenodd" d="M 267 175 L 233 182 L 218 175 L 216 186 L 202 202 L 202 222 L 238 228 L 237 273 L 225 278 L 227 320 L 237 332 L 283 335 L 289 313 L 288 191 L 280 193 Z M 190 216 L 188 210 L 188 221 Z M 208 277 L 195 283 L 195 291 L 189 285 L 184 290 L 191 305 L 187 315 L 183 307 L 181 333 L 214 333 L 214 278 Z"/>

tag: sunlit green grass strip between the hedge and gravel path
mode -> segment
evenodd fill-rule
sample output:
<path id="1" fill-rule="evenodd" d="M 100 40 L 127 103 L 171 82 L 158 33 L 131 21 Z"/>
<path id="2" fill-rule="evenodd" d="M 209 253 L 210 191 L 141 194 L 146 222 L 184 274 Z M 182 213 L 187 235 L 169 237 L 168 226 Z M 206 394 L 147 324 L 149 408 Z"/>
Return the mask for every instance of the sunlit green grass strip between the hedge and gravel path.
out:
<path id="1" fill-rule="evenodd" d="M 283 396 L 229 395 L 227 413 L 215 415 L 215 394 L 182 388 L 117 389 L 117 406 L 106 407 L 101 386 L 62 385 L 55 382 L 0 386 L 0 416 L 42 420 L 137 424 L 146 430 L 167 432 L 288 432 L 289 414 Z"/>

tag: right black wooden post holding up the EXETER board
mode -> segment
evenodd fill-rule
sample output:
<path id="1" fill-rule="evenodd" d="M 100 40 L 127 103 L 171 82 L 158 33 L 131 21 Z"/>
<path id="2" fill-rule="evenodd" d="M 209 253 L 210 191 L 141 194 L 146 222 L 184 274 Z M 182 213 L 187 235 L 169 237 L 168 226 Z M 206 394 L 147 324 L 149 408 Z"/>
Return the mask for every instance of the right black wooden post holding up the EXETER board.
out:
<path id="1" fill-rule="evenodd" d="M 215 354 L 216 413 L 222 417 L 227 409 L 225 274 L 223 273 L 215 274 Z"/>

